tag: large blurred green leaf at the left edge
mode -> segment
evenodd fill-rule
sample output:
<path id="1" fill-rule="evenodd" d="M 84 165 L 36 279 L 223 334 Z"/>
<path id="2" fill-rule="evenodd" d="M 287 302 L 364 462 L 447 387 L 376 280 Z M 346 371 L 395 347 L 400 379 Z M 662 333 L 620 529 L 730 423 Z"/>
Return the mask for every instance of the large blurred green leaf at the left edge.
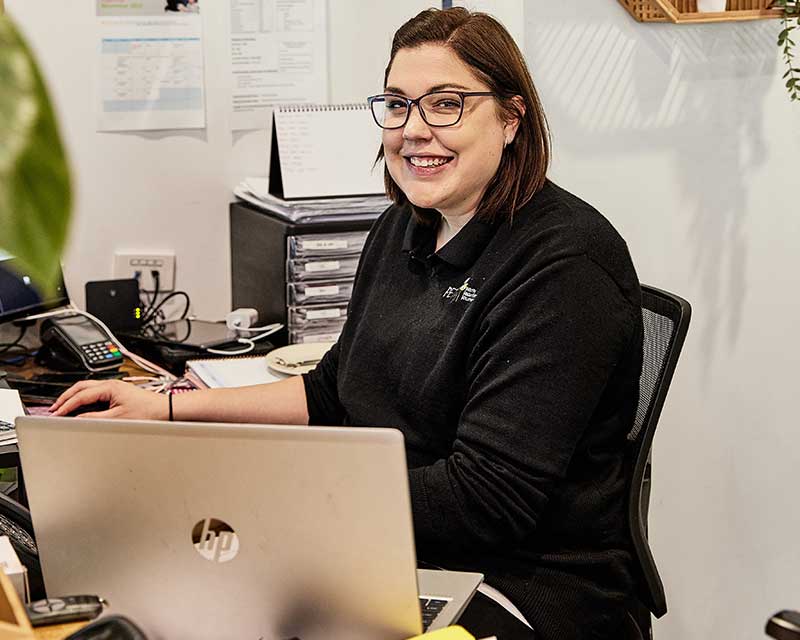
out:
<path id="1" fill-rule="evenodd" d="M 43 293 L 56 284 L 72 207 L 55 114 L 30 49 L 0 15 L 0 248 Z"/>

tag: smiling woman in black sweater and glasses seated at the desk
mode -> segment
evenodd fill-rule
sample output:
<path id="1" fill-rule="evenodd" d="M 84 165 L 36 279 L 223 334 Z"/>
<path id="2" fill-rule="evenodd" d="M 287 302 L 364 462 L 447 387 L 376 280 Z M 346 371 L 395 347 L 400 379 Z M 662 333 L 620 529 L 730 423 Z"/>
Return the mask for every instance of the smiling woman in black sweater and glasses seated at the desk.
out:
<path id="1" fill-rule="evenodd" d="M 625 243 L 546 179 L 539 100 L 492 18 L 422 12 L 384 84 L 370 104 L 395 205 L 339 342 L 303 378 L 181 394 L 175 419 L 397 427 L 421 559 L 483 572 L 537 638 L 619 638 L 642 357 Z M 113 382 L 76 385 L 56 412 L 97 400 L 167 418 L 166 399 Z"/>

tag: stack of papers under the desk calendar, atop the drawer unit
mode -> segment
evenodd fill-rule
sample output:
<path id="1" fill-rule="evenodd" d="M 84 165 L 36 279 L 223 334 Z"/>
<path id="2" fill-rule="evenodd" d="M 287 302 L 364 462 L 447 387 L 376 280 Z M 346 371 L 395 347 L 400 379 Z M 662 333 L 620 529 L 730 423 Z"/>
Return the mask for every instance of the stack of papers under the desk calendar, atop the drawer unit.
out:
<path id="1" fill-rule="evenodd" d="M 289 201 L 269 193 L 266 178 L 245 178 L 233 190 L 237 198 L 290 222 L 374 220 L 391 204 L 386 196 L 314 198 Z"/>

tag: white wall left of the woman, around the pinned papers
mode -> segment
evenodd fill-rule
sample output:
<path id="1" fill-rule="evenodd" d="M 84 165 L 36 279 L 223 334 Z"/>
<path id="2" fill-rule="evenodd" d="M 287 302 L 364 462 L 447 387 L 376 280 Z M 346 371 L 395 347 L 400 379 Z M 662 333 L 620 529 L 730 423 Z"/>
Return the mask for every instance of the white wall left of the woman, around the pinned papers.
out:
<path id="1" fill-rule="evenodd" d="M 64 271 L 78 304 L 86 281 L 112 277 L 115 250 L 166 251 L 175 253 L 176 285 L 199 317 L 230 310 L 228 203 L 242 177 L 266 173 L 270 140 L 266 130 L 231 133 L 228 3 L 201 4 L 206 129 L 97 133 L 95 3 L 6 2 L 38 53 L 72 160 L 76 206 Z M 394 29 L 427 3 L 331 5 L 330 97 L 362 101 L 381 88 Z"/>

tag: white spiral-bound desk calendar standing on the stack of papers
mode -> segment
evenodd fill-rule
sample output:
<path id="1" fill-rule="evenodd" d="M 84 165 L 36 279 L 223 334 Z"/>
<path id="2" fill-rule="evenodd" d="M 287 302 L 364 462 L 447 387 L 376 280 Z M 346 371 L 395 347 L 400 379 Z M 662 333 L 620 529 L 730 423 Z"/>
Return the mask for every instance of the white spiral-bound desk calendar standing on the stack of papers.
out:
<path id="1" fill-rule="evenodd" d="M 269 192 L 286 200 L 382 194 L 380 145 L 366 103 L 277 106 Z"/>

